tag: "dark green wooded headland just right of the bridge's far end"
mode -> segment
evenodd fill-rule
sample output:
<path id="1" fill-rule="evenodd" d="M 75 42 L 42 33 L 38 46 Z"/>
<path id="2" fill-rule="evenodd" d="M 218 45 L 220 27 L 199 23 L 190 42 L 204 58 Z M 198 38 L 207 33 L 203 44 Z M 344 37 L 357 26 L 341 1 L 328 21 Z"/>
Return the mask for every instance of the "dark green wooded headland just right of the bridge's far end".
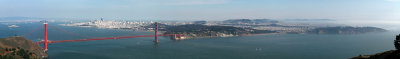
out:
<path id="1" fill-rule="evenodd" d="M 239 36 L 261 33 L 275 33 L 275 31 L 255 30 L 249 28 L 238 28 L 232 26 L 206 26 L 200 24 L 188 24 L 170 26 L 166 28 L 165 34 L 183 34 L 186 38 L 194 37 L 224 37 Z"/>

